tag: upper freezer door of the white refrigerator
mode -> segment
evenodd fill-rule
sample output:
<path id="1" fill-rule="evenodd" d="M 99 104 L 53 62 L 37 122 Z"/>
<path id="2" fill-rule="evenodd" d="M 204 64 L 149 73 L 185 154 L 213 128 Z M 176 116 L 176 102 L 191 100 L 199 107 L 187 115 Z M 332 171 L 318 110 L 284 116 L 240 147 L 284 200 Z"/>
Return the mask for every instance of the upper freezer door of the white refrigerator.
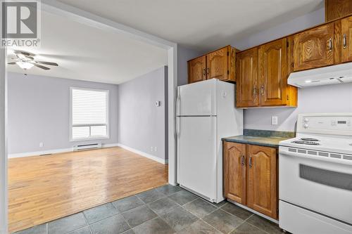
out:
<path id="1" fill-rule="evenodd" d="M 177 116 L 216 115 L 216 79 L 177 89 Z"/>

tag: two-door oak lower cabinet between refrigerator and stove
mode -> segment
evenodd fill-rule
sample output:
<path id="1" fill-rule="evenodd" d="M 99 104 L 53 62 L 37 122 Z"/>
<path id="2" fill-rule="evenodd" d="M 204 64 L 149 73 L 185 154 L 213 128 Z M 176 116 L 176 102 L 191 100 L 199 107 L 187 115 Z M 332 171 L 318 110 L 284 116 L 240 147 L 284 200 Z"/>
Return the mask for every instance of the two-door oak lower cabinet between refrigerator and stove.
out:
<path id="1" fill-rule="evenodd" d="M 276 148 L 225 141 L 223 157 L 224 196 L 278 219 Z"/>

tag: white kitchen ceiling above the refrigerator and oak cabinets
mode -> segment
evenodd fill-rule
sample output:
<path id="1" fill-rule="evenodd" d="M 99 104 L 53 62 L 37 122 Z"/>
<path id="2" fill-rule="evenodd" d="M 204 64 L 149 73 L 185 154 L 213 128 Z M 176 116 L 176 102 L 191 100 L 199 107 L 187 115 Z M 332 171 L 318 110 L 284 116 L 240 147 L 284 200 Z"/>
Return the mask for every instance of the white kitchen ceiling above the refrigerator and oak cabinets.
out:
<path id="1" fill-rule="evenodd" d="M 322 8 L 323 0 L 58 0 L 207 51 Z"/>

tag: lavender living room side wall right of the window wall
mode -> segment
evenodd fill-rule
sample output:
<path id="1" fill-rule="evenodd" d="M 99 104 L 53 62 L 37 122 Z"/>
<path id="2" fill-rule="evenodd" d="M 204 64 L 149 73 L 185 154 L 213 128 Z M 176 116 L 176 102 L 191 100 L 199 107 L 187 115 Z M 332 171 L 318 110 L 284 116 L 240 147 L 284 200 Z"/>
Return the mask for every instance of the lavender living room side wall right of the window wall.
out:
<path id="1" fill-rule="evenodd" d="M 118 85 L 119 143 L 163 160 L 168 159 L 167 81 L 168 67 L 161 67 Z"/>

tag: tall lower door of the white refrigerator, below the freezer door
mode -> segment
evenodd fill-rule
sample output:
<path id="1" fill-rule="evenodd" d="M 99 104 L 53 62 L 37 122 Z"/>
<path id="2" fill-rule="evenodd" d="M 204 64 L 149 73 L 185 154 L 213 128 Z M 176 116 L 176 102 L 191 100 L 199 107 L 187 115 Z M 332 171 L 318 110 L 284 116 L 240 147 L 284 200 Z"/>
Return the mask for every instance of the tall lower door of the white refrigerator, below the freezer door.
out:
<path id="1" fill-rule="evenodd" d="M 178 183 L 216 200 L 216 117 L 177 117 Z"/>

